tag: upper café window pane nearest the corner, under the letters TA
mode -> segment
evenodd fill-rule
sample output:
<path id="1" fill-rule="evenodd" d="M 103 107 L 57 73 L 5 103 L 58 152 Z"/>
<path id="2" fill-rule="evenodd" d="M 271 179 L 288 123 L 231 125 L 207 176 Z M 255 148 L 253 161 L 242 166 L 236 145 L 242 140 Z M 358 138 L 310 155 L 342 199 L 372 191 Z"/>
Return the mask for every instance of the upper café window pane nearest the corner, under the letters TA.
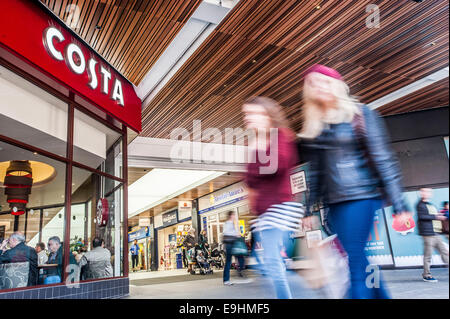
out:
<path id="1" fill-rule="evenodd" d="M 122 177 L 122 135 L 75 110 L 73 160 Z M 114 184 L 117 186 L 117 184 Z"/>

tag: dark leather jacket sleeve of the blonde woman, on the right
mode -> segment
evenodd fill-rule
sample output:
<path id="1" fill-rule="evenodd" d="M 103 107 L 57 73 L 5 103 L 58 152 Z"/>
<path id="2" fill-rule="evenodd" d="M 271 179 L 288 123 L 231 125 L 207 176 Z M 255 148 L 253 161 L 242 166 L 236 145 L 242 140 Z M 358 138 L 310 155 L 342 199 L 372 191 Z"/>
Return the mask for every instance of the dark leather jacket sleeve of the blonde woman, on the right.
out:
<path id="1" fill-rule="evenodd" d="M 389 145 L 383 120 L 367 106 L 362 108 L 365 122 L 365 142 L 369 159 L 376 170 L 394 213 L 408 210 L 402 195 L 401 170 Z"/>

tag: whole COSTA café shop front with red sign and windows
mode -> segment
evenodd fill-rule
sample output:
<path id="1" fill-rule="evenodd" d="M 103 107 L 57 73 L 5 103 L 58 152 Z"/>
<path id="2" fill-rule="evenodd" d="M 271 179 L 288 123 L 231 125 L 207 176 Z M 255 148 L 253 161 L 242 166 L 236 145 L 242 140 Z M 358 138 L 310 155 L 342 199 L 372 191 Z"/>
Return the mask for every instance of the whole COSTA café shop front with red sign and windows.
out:
<path id="1" fill-rule="evenodd" d="M 141 102 L 38 2 L 0 2 L 0 28 L 0 241 L 20 232 L 61 261 L 38 265 L 39 278 L 24 282 L 14 274 L 28 276 L 30 263 L 2 260 L 0 294 L 125 296 L 127 131 L 141 128 Z M 112 277 L 94 280 L 78 267 L 94 238 L 111 253 Z"/>

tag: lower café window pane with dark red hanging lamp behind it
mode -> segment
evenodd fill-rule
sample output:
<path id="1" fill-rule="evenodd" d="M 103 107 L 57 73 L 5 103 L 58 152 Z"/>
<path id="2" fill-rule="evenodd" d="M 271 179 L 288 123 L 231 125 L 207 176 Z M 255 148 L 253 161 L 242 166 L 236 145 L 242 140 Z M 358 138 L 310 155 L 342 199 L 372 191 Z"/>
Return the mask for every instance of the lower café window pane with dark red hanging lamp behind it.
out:
<path id="1" fill-rule="evenodd" d="M 55 259 L 49 263 L 56 265 L 47 268 L 38 265 L 35 269 L 30 264 L 23 265 L 22 262 L 28 261 L 26 258 L 10 258 L 26 249 L 23 244 L 18 246 L 21 238 L 14 235 L 13 245 L 8 244 L 9 251 L 0 257 L 3 279 L 0 289 L 62 280 L 65 175 L 65 163 L 0 141 L 0 225 L 5 226 L 4 238 L 9 239 L 13 233 L 20 232 L 25 239 L 23 244 L 29 249 L 35 249 L 37 243 L 43 242 L 43 254 L 48 257 L 52 249 L 51 256 Z M 25 278 L 17 275 L 21 272 L 29 278 L 26 283 L 19 280 Z"/>

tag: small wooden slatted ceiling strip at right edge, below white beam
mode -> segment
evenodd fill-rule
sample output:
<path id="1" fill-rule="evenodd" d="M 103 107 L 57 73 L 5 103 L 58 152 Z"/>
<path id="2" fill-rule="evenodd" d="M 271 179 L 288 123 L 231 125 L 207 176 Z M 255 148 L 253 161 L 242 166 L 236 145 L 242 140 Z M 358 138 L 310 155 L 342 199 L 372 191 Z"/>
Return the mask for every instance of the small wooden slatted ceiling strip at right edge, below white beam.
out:
<path id="1" fill-rule="evenodd" d="M 380 114 L 393 115 L 399 113 L 421 111 L 435 107 L 448 107 L 448 78 L 437 81 L 436 83 L 408 94 L 401 99 L 383 105 L 378 109 Z"/>

